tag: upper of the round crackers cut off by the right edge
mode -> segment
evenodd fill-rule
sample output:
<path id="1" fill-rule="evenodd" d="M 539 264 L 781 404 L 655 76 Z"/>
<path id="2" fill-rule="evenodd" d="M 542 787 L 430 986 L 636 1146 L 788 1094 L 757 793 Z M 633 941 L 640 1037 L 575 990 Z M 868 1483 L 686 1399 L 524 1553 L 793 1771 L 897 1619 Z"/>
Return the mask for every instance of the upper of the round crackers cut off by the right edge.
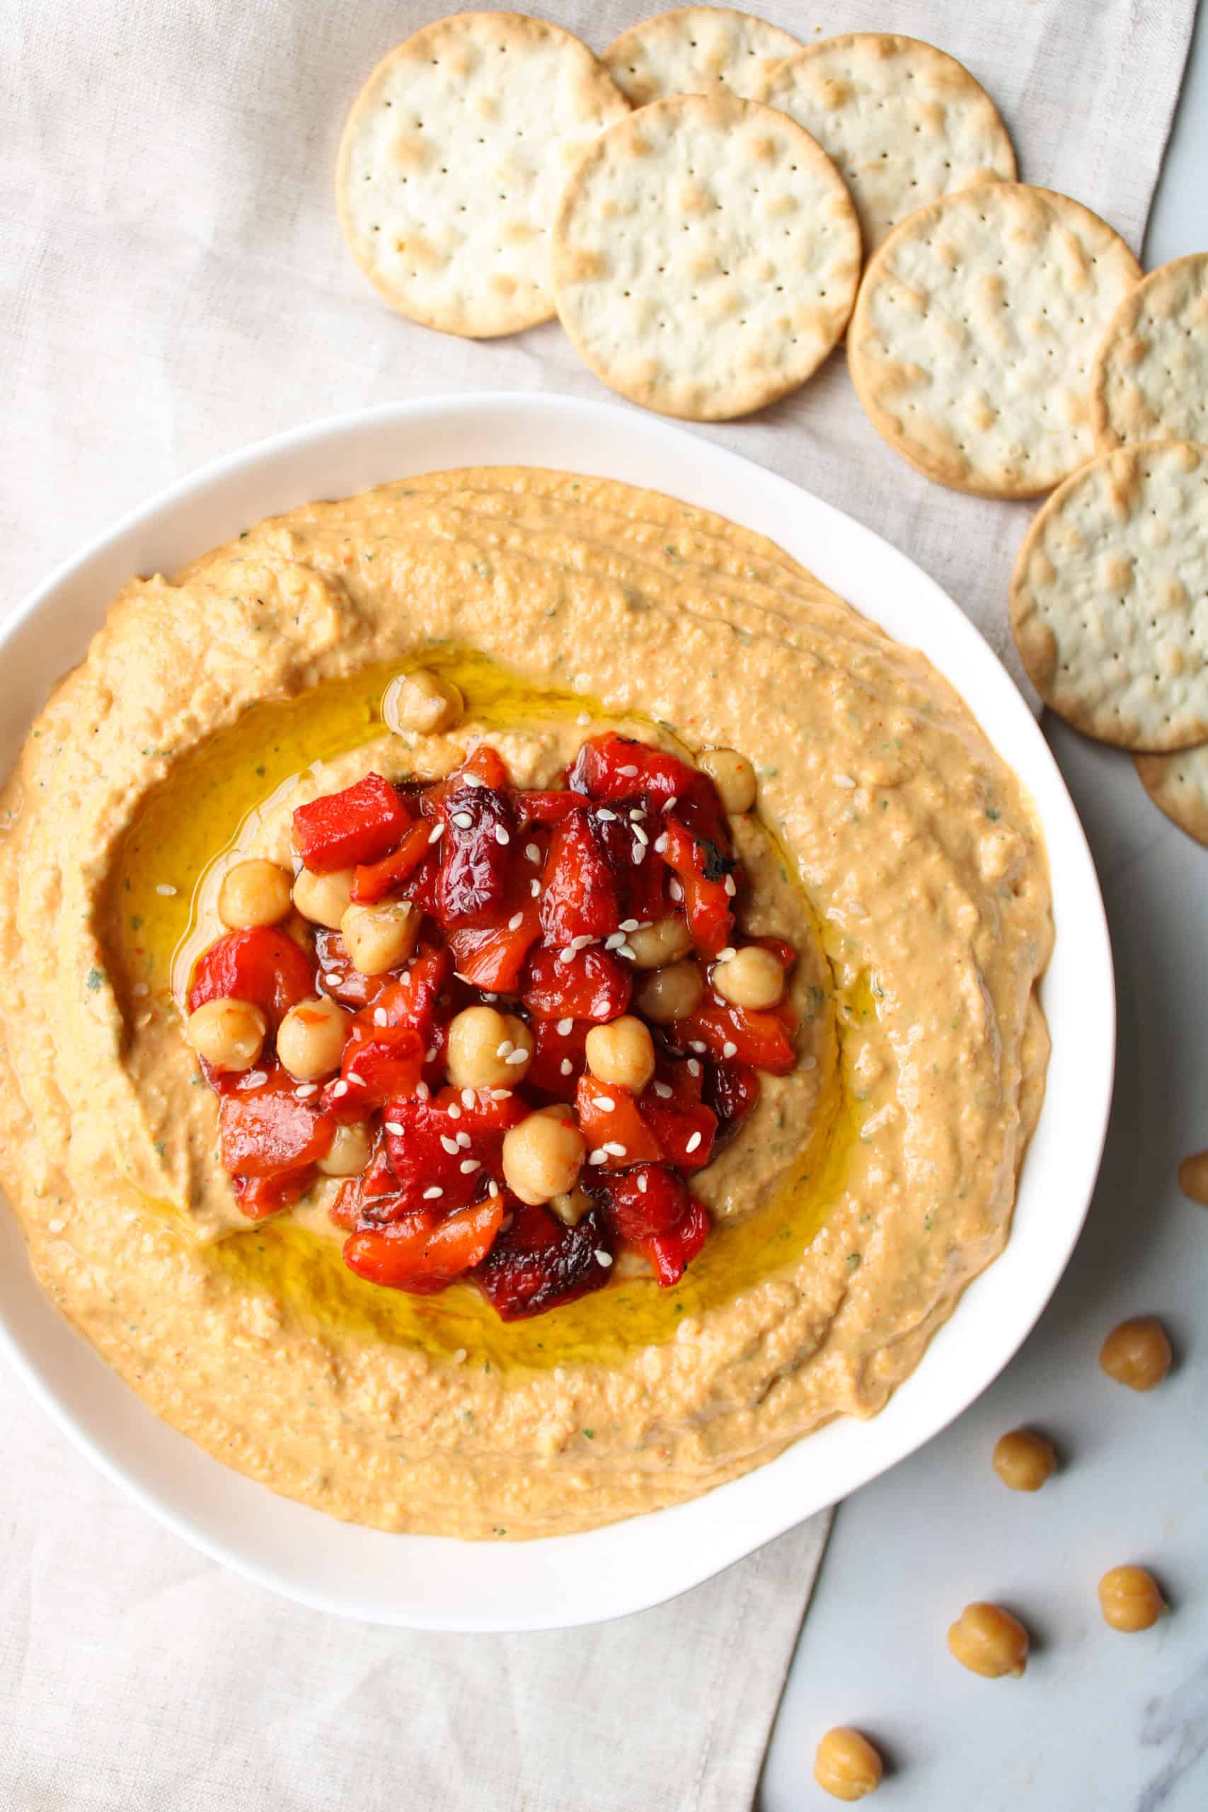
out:
<path id="1" fill-rule="evenodd" d="M 1208 440 L 1208 252 L 1161 265 L 1125 295 L 1090 371 L 1101 451 L 1134 440 Z"/>

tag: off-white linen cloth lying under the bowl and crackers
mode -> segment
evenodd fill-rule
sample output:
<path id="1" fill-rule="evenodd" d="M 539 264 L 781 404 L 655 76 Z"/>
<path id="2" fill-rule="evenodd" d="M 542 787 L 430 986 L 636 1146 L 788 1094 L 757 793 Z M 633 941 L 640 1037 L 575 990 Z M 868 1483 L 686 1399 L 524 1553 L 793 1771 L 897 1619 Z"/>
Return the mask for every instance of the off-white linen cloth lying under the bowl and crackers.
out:
<path id="1" fill-rule="evenodd" d="M 469 0 L 465 0 L 469 4 Z M 811 40 L 929 38 L 985 82 L 1025 179 L 1139 246 L 1194 0 L 753 0 Z M 603 47 L 657 0 L 534 11 Z M 415 0 L 9 0 L 0 18 L 0 605 L 194 466 L 397 397 L 609 395 L 556 324 L 465 342 L 393 315 L 342 248 L 331 163 Z M 927 567 L 1012 660 L 1027 506 L 918 477 L 842 353 L 697 429 Z M 301 502 L 301 498 L 299 498 Z M 1018 672 L 1018 665 L 1012 661 Z M 152 1524 L 0 1373 L 0 1803 L 14 1812 L 730 1812 L 750 1805 L 826 1518 L 599 1629 L 342 1624 Z M 802 1781 L 810 1758 L 802 1756 Z"/>

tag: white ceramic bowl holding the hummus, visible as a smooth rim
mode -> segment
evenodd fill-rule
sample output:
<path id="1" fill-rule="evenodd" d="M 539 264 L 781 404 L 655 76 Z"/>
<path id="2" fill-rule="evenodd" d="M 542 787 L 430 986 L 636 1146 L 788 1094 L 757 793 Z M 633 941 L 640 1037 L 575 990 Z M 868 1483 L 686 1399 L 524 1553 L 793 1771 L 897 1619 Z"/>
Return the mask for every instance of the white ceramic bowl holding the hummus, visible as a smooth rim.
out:
<path id="1" fill-rule="evenodd" d="M 382 1535 L 273 1497 L 159 1422 L 81 1345 L 34 1285 L 13 1214 L 0 1214 L 0 1343 L 83 1451 L 170 1529 L 259 1584 L 415 1629 L 543 1629 L 639 1611 L 837 1502 L 951 1422 L 1016 1352 L 1065 1268 L 1099 1163 L 1114 1062 L 1112 959 L 1087 841 L 1027 705 L 976 629 L 869 529 L 701 437 L 610 404 L 523 395 L 391 404 L 266 440 L 165 491 L 60 567 L 7 623 L 0 772 L 132 573 L 170 573 L 310 498 L 491 464 L 625 478 L 721 511 L 770 535 L 947 674 L 1043 823 L 1056 902 L 1043 984 L 1052 1058 L 1007 1250 L 889 1406 L 869 1422 L 837 1421 L 692 1504 L 589 1535 L 518 1544 Z"/>

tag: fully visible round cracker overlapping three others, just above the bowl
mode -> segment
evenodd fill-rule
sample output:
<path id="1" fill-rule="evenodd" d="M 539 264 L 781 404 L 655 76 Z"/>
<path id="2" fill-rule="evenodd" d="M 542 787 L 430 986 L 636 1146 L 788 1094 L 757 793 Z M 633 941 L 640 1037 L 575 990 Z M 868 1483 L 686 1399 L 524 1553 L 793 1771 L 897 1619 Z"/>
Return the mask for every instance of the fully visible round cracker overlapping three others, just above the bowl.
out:
<path id="1" fill-rule="evenodd" d="M 860 228 L 786 114 L 676 94 L 609 127 L 554 221 L 558 315 L 612 390 L 715 422 L 773 402 L 842 337 Z"/>

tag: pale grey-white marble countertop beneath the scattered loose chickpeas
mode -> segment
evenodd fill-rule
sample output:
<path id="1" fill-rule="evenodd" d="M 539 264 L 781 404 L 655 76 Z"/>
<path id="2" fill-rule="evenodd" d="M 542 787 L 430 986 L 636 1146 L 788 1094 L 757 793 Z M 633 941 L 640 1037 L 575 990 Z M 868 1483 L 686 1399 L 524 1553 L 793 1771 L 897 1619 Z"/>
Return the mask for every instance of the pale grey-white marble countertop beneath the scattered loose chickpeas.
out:
<path id="1" fill-rule="evenodd" d="M 1145 245 L 1146 270 L 1208 248 L 1208 0 Z M 759 1812 L 835 1805 L 813 1785 L 833 1723 L 882 1749 L 886 1812 L 1203 1812 L 1208 1807 L 1208 1214 L 1175 1163 L 1208 1145 L 1208 850 L 1132 761 L 1050 716 L 1116 951 L 1116 1105 L 1087 1230 L 1049 1310 L 989 1392 L 835 1518 L 764 1769 Z M 971 1306 L 976 1306 L 971 1301 Z M 1177 1364 L 1150 1395 L 1110 1383 L 1103 1335 L 1157 1314 Z M 1021 1422 L 1063 1466 L 1036 1497 L 991 1470 Z M 1098 1580 L 1141 1562 L 1172 1614 L 1110 1631 Z M 1034 1638 L 1023 1680 L 947 1653 L 971 1598 Z"/>

